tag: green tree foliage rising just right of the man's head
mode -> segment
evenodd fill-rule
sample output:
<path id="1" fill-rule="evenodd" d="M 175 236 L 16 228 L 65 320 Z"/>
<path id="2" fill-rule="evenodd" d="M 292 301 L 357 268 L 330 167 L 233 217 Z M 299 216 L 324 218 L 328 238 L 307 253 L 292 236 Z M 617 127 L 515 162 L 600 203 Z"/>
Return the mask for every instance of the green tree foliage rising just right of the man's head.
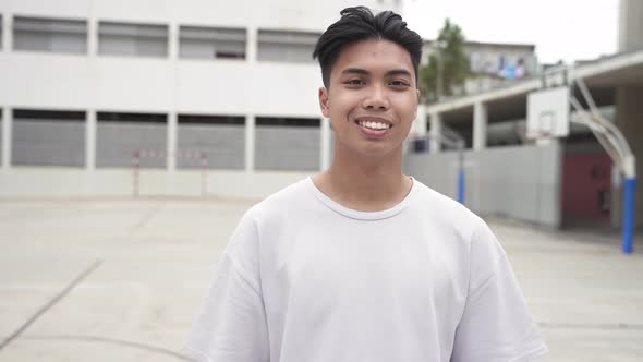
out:
<path id="1" fill-rule="evenodd" d="M 434 43 L 441 46 L 436 46 L 436 51 L 428 57 L 428 62 L 420 69 L 420 88 L 425 102 L 438 99 L 440 69 L 442 96 L 451 96 L 456 87 L 464 85 L 464 81 L 471 74 L 464 41 L 460 26 L 446 19 Z"/>

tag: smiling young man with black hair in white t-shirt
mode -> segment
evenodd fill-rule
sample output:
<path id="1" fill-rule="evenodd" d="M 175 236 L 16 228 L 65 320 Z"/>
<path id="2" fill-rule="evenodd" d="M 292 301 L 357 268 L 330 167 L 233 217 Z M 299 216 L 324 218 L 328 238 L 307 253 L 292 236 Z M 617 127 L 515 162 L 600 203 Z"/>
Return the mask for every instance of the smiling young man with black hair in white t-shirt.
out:
<path id="1" fill-rule="evenodd" d="M 530 361 L 547 348 L 486 224 L 402 174 L 422 39 L 349 8 L 322 35 L 325 172 L 252 207 L 186 354 L 216 362 Z M 438 172 L 439 170 L 436 170 Z"/>

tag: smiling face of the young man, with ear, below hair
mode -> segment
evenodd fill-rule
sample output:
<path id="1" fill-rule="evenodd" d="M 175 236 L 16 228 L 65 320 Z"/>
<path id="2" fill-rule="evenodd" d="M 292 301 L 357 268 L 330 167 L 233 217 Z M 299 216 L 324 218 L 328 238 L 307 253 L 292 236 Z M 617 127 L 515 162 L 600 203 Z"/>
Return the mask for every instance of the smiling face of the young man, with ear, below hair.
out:
<path id="1" fill-rule="evenodd" d="M 400 157 L 417 114 L 418 93 L 411 56 L 384 39 L 345 46 L 319 89 L 324 117 L 330 118 L 336 154 Z"/>

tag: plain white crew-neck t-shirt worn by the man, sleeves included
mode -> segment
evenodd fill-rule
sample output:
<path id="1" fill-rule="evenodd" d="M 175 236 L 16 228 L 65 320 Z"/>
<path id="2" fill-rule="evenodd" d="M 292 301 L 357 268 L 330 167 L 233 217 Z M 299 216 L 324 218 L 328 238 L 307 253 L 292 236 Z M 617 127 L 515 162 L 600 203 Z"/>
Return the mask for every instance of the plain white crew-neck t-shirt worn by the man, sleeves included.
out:
<path id="1" fill-rule="evenodd" d="M 357 212 L 305 179 L 252 207 L 184 348 L 211 362 L 505 362 L 545 354 L 505 251 L 417 180 Z"/>

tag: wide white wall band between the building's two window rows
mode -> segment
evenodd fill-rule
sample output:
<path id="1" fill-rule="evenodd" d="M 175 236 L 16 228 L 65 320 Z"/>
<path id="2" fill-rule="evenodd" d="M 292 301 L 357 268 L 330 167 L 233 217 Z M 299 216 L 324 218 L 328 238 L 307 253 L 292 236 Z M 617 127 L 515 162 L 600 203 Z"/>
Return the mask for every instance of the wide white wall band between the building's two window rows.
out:
<path id="1" fill-rule="evenodd" d="M 9 52 L 0 105 L 14 108 L 319 117 L 318 65 Z"/>

